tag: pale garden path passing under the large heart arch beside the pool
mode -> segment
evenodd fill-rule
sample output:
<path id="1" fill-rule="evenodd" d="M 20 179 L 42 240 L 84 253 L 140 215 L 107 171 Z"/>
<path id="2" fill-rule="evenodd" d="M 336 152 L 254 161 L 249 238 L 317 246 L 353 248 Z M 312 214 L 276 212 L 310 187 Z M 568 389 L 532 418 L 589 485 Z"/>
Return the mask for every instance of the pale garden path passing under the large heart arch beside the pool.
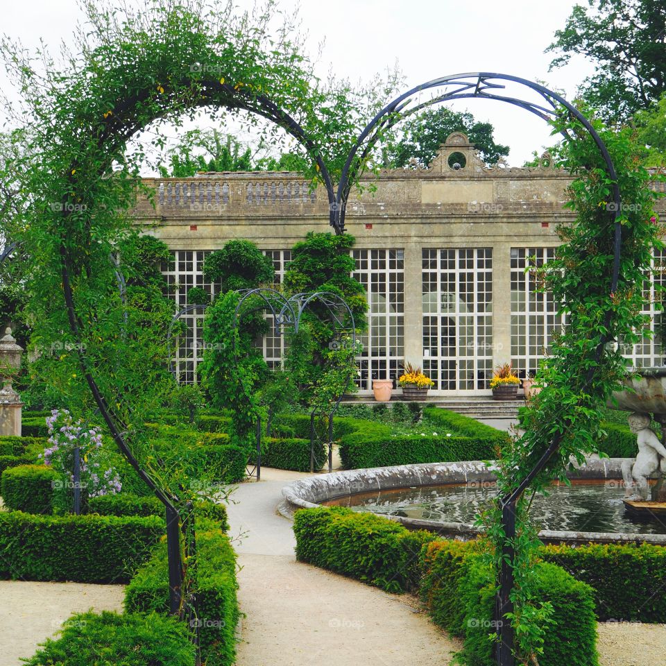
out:
<path id="1" fill-rule="evenodd" d="M 262 469 L 228 506 L 238 553 L 241 622 L 237 666 L 443 666 L 459 644 L 408 595 L 388 595 L 296 562 L 280 490 L 309 475 Z"/>

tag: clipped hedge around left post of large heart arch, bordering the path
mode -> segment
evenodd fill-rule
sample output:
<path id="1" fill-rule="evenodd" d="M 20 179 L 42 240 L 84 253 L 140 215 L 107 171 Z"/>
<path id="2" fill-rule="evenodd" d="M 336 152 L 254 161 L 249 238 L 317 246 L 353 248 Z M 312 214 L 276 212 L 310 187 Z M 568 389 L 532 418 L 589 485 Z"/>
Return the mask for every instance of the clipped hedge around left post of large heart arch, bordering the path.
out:
<path id="1" fill-rule="evenodd" d="M 239 619 L 236 554 L 219 524 L 196 525 L 196 593 L 203 661 L 206 666 L 231 666 L 236 658 L 235 629 Z M 169 612 L 167 544 L 162 541 L 125 590 L 128 613 Z"/>

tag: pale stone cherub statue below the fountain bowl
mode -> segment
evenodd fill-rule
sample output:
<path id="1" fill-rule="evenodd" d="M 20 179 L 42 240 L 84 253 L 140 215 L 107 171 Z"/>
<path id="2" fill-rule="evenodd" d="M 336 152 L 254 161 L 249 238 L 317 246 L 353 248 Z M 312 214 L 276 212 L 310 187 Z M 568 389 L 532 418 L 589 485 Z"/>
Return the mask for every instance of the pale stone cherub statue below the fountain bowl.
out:
<path id="1" fill-rule="evenodd" d="M 631 432 L 635 432 L 638 440 L 638 456 L 633 464 L 631 460 L 622 463 L 624 479 L 624 497 L 646 502 L 649 499 L 648 477 L 657 470 L 666 474 L 666 448 L 650 429 L 648 414 L 632 413 L 627 417 Z"/>

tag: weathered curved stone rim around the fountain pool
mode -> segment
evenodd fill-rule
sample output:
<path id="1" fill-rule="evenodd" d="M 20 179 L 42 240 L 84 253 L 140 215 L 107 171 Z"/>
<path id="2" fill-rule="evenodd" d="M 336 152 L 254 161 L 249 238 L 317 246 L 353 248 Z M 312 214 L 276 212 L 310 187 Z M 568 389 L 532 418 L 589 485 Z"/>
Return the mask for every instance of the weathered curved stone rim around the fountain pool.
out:
<path id="1" fill-rule="evenodd" d="M 666 368 L 665 368 L 666 373 Z M 580 468 L 567 472 L 570 479 L 622 479 L 625 458 L 590 459 Z M 629 459 L 631 460 L 631 459 Z M 495 464 L 490 461 L 461 461 L 454 463 L 422 463 L 346 470 L 292 481 L 282 488 L 282 502 L 278 510 L 289 520 L 298 509 L 317 509 L 327 502 L 376 490 L 435 486 L 442 484 L 470 484 L 474 481 L 494 481 Z M 472 539 L 481 531 L 472 524 L 462 522 L 436 522 L 401 516 L 382 518 L 400 522 L 409 529 L 428 529 L 456 539 Z M 666 546 L 666 534 L 635 534 L 625 532 L 574 532 L 543 530 L 539 538 L 545 543 L 651 543 Z"/>

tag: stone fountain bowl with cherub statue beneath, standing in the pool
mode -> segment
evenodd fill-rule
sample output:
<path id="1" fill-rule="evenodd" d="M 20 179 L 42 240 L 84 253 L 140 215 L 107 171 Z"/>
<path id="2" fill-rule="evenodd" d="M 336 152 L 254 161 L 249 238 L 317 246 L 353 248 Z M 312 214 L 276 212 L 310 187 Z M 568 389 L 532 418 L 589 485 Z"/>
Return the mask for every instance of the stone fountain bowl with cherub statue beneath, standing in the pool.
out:
<path id="1" fill-rule="evenodd" d="M 666 367 L 640 368 L 625 384 L 627 390 L 613 393 L 608 402 L 608 407 L 631 412 L 627 421 L 638 445 L 635 459 L 622 466 L 624 504 L 638 513 L 666 513 Z M 661 441 L 650 428 L 651 418 L 661 425 Z M 655 478 L 650 488 L 649 479 Z"/>

